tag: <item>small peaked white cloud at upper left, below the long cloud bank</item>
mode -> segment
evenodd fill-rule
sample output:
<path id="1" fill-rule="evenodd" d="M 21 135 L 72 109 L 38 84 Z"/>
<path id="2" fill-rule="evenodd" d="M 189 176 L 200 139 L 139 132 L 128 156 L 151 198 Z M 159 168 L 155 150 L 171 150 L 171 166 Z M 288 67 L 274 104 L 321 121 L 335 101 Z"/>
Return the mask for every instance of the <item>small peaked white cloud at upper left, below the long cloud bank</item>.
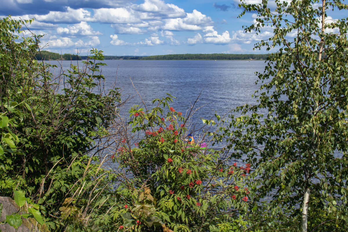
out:
<path id="1" fill-rule="evenodd" d="M 93 31 L 93 28 L 86 22 L 81 22 L 68 27 L 58 27 L 57 34 L 66 36 L 78 36 L 78 35 L 101 35 L 99 31 Z"/>

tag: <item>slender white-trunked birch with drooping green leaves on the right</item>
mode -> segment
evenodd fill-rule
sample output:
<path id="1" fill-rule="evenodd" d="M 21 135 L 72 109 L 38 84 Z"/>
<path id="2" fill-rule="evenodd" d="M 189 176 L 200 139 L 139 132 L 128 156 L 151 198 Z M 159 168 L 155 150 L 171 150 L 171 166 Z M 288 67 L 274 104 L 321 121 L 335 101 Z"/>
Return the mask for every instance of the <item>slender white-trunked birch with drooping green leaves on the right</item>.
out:
<path id="1" fill-rule="evenodd" d="M 240 4 L 241 15 L 257 15 L 246 32 L 273 29 L 255 48 L 279 51 L 257 73 L 258 104 L 221 119 L 215 138 L 255 167 L 250 217 L 267 231 L 347 230 L 348 24 L 347 18 L 325 21 L 327 10 L 347 6 L 317 3 L 276 1 L 274 10 L 266 0 Z M 265 198 L 265 205 L 256 203 Z"/>

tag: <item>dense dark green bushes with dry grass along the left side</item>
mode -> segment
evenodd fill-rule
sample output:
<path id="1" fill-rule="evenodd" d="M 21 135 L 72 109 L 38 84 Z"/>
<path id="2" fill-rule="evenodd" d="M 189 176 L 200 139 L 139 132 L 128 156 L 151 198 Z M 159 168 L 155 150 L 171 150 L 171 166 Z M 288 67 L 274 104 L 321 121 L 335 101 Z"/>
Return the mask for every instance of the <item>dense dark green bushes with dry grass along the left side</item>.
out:
<path id="1" fill-rule="evenodd" d="M 113 182 L 111 170 L 102 169 L 96 155 L 110 142 L 120 95 L 117 89 L 102 88 L 100 67 L 105 64 L 97 62 L 103 55 L 96 49 L 84 67 L 72 65 L 54 77 L 50 65 L 34 58 L 41 36 L 16 35 L 30 22 L 10 17 L 0 21 L 0 195 L 23 190 L 45 208 L 51 229 L 79 222 L 95 230 L 91 210 Z M 79 199 L 74 206 L 80 209 L 77 221 L 60 210 L 72 207 L 74 198 Z"/>

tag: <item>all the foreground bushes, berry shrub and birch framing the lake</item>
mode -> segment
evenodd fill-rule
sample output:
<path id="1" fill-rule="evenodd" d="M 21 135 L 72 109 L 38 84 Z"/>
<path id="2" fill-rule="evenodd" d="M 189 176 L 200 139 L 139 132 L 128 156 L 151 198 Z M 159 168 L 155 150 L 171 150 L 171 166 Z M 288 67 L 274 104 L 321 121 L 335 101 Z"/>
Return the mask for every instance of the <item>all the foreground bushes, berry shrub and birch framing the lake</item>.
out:
<path id="1" fill-rule="evenodd" d="M 274 29 L 256 48 L 281 48 L 258 73 L 257 105 L 203 120 L 217 126 L 213 143 L 227 143 L 205 154 L 184 142 L 189 115 L 170 95 L 121 119 L 118 89 L 102 89 L 100 51 L 85 71 L 54 78 L 34 60 L 40 36 L 16 42 L 25 22 L 2 19 L 0 194 L 25 193 L 16 202 L 50 231 L 346 231 L 348 25 L 325 23 L 325 12 L 347 6 L 314 3 L 241 4 L 258 15 L 246 31 Z"/>

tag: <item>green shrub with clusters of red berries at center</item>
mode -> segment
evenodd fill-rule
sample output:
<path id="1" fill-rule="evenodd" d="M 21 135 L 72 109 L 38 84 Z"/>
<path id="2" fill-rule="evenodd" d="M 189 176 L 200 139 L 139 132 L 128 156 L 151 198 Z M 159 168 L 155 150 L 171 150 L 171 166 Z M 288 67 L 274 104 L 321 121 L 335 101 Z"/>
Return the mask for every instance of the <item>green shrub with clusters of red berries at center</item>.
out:
<path id="1" fill-rule="evenodd" d="M 132 133 L 143 138 L 125 136 L 111 157 L 122 174 L 117 222 L 135 231 L 225 231 L 219 223 L 226 231 L 246 228 L 239 212 L 247 209 L 243 178 L 249 169 L 184 141 L 187 120 L 170 101 L 168 95 L 154 99 L 151 110 L 130 110 Z"/>

